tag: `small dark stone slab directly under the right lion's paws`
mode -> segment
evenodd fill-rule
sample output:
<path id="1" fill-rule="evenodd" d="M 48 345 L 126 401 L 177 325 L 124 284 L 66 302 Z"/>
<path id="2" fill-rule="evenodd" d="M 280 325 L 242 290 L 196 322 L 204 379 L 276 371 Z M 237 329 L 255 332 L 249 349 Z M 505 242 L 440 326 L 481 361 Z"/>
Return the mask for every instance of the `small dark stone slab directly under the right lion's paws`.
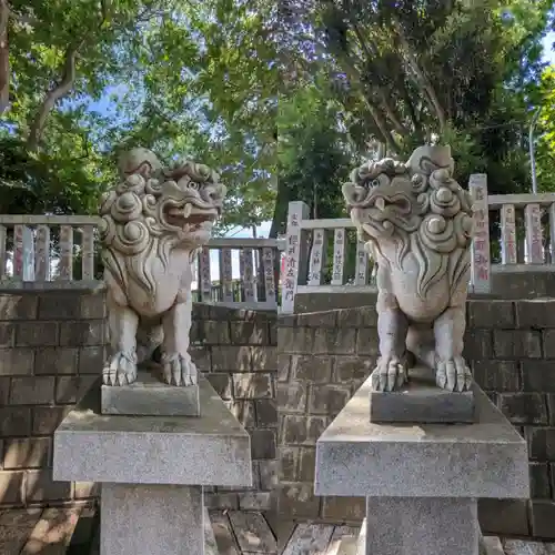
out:
<path id="1" fill-rule="evenodd" d="M 474 390 L 442 390 L 430 369 L 416 366 L 408 371 L 408 382 L 400 390 L 370 392 L 370 420 L 375 423 L 472 423 Z"/>

